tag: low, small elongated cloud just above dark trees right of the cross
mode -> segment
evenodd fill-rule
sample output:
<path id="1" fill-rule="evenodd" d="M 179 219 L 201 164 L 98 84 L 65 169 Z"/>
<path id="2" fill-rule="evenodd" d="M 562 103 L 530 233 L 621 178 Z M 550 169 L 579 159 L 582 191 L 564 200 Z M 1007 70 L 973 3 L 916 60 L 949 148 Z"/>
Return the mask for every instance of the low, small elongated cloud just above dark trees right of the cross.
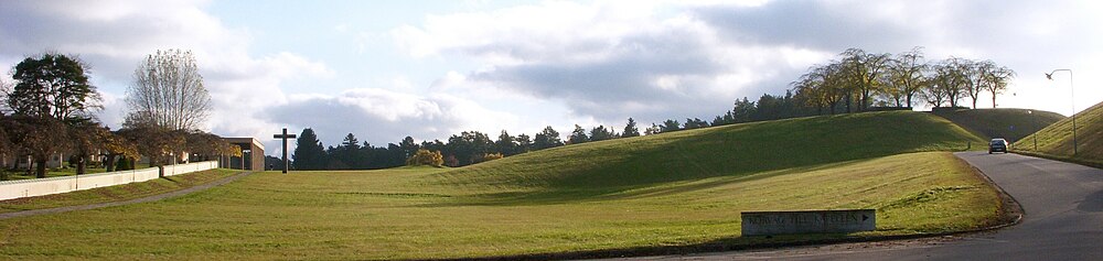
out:
<path id="1" fill-rule="evenodd" d="M 460 131 L 495 133 L 516 117 L 447 94 L 418 96 L 382 88 L 355 88 L 340 95 L 292 95 L 286 106 L 266 117 L 274 122 L 296 122 L 312 128 L 325 144 L 335 144 L 346 133 L 375 145 L 397 142 L 406 135 L 418 140 L 443 139 Z"/>

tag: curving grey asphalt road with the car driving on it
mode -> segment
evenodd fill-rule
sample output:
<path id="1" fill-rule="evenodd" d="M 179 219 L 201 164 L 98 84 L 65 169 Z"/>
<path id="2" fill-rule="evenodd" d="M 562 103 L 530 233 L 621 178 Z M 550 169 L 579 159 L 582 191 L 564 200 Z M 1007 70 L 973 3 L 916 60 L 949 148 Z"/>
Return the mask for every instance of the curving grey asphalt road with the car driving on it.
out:
<path id="1" fill-rule="evenodd" d="M 1103 260 L 1103 170 L 1018 154 L 956 155 L 1022 205 L 1021 224 L 954 238 L 643 259 Z"/>

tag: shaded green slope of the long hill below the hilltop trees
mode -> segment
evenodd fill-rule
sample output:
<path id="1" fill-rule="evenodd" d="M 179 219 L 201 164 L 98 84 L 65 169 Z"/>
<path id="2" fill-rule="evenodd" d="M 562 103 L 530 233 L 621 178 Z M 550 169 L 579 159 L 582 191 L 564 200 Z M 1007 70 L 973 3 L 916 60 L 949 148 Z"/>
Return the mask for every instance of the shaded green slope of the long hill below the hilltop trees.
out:
<path id="1" fill-rule="evenodd" d="M 984 142 L 950 121 L 890 111 L 687 130 L 555 148 L 438 174 L 474 187 L 628 189 Z M 983 144 L 983 143 L 982 143 Z"/>

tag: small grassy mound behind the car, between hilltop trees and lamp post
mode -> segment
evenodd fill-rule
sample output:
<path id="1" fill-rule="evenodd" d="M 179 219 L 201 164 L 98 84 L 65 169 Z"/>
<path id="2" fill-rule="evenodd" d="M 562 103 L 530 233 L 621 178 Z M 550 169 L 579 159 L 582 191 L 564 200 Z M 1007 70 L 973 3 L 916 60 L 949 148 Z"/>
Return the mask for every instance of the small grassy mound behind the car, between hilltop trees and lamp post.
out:
<path id="1" fill-rule="evenodd" d="M 1028 109 L 975 109 L 939 111 L 946 118 L 982 138 L 1004 138 L 1015 142 L 1061 119 L 1057 112 Z"/>

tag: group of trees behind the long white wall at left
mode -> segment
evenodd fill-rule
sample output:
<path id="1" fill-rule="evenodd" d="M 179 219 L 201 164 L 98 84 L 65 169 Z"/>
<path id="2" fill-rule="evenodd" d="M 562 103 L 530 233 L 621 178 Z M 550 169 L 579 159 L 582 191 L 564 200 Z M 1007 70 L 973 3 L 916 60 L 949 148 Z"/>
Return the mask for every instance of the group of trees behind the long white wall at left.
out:
<path id="1" fill-rule="evenodd" d="M 190 52 L 158 51 L 139 63 L 127 89 L 126 122 L 114 131 L 94 117 L 101 98 L 88 83 L 87 67 L 73 55 L 46 53 L 17 64 L 11 83 L 0 80 L 0 161 L 6 163 L 0 180 L 8 180 L 7 170 L 18 168 L 22 159 L 28 159 L 28 174 L 45 177 L 49 159 L 60 155 L 71 155 L 66 160 L 77 174 L 89 164 L 108 172 L 133 168 L 140 156 L 157 166 L 189 156 L 242 155 L 240 148 L 199 130 L 211 98 Z"/>

